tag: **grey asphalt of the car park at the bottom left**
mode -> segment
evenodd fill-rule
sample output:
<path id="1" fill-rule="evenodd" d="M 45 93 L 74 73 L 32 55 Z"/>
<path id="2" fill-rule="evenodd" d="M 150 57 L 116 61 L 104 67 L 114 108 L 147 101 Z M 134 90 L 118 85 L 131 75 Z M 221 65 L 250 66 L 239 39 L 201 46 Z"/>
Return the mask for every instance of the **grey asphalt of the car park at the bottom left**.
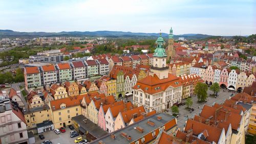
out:
<path id="1" fill-rule="evenodd" d="M 81 135 L 79 135 L 79 136 L 71 138 L 70 137 L 70 131 L 71 130 L 69 128 L 66 128 L 65 130 L 66 130 L 65 133 L 60 133 L 60 134 L 56 134 L 54 131 L 45 132 L 45 133 L 43 133 L 44 136 L 45 136 L 45 139 L 42 139 L 42 140 L 38 137 L 38 135 L 35 135 L 35 143 L 38 144 L 38 143 L 41 143 L 44 140 L 51 140 L 53 144 L 57 144 L 57 143 L 60 143 L 60 144 L 75 143 L 74 140 L 77 137 L 81 136 Z"/>

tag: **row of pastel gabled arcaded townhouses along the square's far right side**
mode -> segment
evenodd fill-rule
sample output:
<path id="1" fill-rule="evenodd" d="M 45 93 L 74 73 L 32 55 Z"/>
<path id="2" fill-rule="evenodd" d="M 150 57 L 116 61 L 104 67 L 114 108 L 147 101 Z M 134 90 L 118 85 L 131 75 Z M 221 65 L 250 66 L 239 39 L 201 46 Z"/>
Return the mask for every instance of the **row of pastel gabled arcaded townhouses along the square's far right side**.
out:
<path id="1" fill-rule="evenodd" d="M 241 72 L 239 69 L 218 68 L 197 63 L 190 68 L 190 74 L 198 74 L 206 84 L 218 83 L 220 87 L 242 92 L 244 87 L 249 87 L 255 81 L 256 74 Z"/>

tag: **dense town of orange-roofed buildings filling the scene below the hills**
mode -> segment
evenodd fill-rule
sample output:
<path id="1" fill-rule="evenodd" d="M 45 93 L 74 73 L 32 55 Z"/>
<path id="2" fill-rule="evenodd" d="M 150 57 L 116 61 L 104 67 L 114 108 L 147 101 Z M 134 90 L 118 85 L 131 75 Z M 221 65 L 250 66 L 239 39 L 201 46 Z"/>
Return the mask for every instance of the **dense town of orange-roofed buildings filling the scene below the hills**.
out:
<path id="1" fill-rule="evenodd" d="M 20 43 L 32 42 L 52 40 Z M 167 42 L 160 33 L 154 53 L 134 45 L 123 55 L 72 58 L 94 49 L 87 45 L 19 60 L 25 83 L 2 85 L 0 93 L 0 143 L 239 144 L 256 134 L 256 57 L 239 56 L 255 44 L 238 48 L 209 39 L 187 45 L 176 43 L 170 29 Z M 210 94 L 208 87 L 217 90 Z"/>

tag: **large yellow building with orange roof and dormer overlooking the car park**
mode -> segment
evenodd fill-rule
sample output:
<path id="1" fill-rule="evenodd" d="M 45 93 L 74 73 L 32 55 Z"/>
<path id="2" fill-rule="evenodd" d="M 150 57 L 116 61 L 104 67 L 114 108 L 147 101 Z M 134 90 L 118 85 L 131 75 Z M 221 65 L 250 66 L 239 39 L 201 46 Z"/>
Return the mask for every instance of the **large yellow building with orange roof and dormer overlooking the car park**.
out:
<path id="1" fill-rule="evenodd" d="M 71 118 L 81 114 L 80 102 L 83 95 L 50 101 L 50 109 L 55 129 L 72 124 Z"/>

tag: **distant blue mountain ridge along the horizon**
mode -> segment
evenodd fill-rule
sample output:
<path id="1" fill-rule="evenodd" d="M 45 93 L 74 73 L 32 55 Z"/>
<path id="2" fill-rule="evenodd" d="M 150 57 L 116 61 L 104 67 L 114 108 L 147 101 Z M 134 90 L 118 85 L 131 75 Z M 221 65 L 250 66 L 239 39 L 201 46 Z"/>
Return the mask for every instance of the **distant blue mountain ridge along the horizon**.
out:
<path id="1" fill-rule="evenodd" d="M 102 37 L 158 37 L 159 33 L 136 33 L 136 32 L 122 32 L 122 31 L 62 31 L 62 32 L 17 32 L 12 30 L 0 30 L 0 38 L 5 37 L 39 37 L 39 36 L 102 36 Z M 162 36 L 167 38 L 167 33 L 162 33 Z M 181 34 L 181 35 L 174 35 L 174 38 L 184 37 L 186 39 L 201 39 L 211 37 L 212 35 L 206 34 Z"/>

